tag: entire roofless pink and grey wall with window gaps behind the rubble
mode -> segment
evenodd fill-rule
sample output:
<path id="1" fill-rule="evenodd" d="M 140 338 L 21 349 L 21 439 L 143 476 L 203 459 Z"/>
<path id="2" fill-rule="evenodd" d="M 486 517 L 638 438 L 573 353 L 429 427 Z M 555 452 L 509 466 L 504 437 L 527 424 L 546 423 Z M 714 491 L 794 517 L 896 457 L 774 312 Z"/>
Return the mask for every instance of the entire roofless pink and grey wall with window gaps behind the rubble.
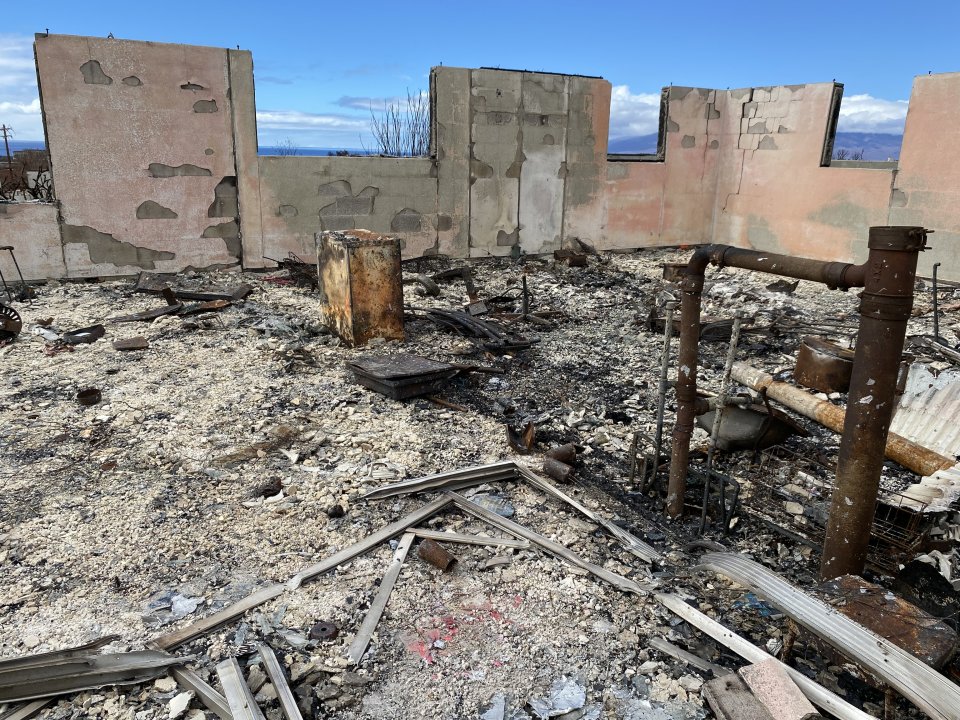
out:
<path id="1" fill-rule="evenodd" d="M 46 35 L 36 52 L 62 248 L 55 212 L 16 211 L 37 224 L 33 277 L 263 267 L 352 227 L 406 257 L 578 237 L 860 260 L 870 225 L 918 224 L 937 231 L 921 272 L 960 279 L 960 74 L 917 78 L 899 168 L 821 166 L 834 83 L 671 87 L 663 154 L 625 162 L 606 154 L 606 80 L 448 67 L 431 71 L 431 158 L 258 158 L 248 52 Z"/>

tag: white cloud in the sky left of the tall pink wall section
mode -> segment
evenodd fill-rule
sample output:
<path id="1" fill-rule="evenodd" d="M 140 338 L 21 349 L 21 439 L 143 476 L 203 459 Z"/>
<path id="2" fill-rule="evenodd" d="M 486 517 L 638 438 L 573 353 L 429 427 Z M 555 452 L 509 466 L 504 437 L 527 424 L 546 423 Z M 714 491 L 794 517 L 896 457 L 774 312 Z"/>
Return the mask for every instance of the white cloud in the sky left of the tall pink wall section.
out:
<path id="1" fill-rule="evenodd" d="M 0 98 L 0 124 L 13 128 L 14 139 L 43 139 L 33 38 L 0 34 Z"/>

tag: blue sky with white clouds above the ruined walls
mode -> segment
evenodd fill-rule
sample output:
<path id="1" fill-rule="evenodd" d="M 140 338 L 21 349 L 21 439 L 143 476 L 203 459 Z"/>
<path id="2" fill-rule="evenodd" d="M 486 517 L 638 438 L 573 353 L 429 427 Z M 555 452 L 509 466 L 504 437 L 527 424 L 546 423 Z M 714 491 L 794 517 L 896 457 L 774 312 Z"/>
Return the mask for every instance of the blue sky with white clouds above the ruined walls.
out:
<path id="1" fill-rule="evenodd" d="M 960 2 L 8 3 L 0 123 L 43 136 L 34 32 L 253 51 L 260 142 L 372 146 L 370 106 L 426 90 L 430 67 L 600 75 L 611 138 L 656 131 L 664 85 L 845 85 L 841 130 L 900 132 L 914 75 L 960 70 Z M 363 139 L 361 140 L 361 136 Z"/>

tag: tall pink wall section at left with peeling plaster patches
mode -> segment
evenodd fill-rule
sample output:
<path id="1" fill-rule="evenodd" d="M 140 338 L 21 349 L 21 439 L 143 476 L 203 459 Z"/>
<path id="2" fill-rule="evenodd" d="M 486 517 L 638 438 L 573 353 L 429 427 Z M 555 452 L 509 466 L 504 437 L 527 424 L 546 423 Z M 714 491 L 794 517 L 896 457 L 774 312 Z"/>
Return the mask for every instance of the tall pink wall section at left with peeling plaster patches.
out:
<path id="1" fill-rule="evenodd" d="M 239 264 L 231 60 L 249 53 L 41 34 L 36 57 L 66 275 Z"/>

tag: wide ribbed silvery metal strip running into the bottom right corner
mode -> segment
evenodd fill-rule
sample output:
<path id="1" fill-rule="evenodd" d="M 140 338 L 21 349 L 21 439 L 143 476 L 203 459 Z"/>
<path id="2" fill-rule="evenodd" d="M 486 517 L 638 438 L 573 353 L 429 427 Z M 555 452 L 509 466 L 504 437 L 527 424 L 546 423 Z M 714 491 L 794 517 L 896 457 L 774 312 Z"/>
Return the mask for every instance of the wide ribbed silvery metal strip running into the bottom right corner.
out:
<path id="1" fill-rule="evenodd" d="M 896 689 L 936 720 L 956 720 L 960 687 L 884 637 L 736 553 L 709 553 L 698 568 L 750 588 L 799 625 Z"/>

